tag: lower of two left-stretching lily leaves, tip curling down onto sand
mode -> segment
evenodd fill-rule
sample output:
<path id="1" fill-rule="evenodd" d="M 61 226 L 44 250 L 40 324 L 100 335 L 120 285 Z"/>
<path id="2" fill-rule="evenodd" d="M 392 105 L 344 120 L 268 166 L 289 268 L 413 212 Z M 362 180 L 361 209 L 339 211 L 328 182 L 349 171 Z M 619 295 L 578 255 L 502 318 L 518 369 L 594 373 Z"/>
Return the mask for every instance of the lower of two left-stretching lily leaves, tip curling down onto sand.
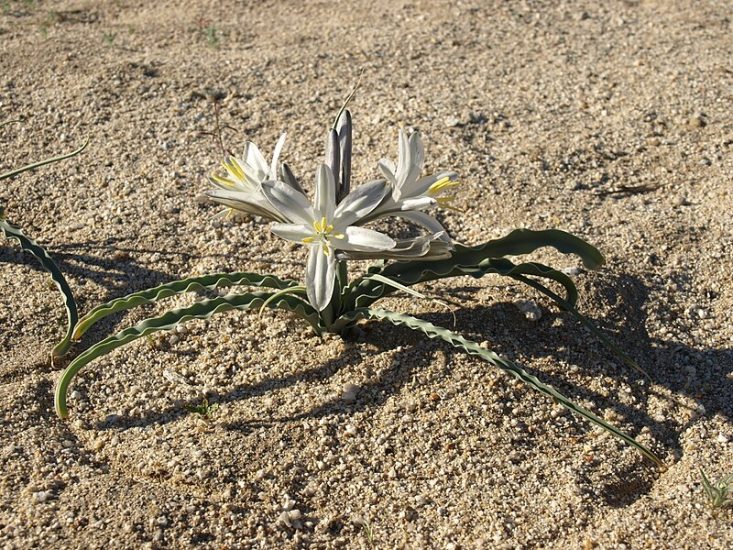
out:
<path id="1" fill-rule="evenodd" d="M 69 411 L 66 406 L 66 394 L 68 392 L 69 385 L 79 370 L 94 359 L 109 353 L 120 346 L 133 342 L 147 334 L 161 330 L 171 330 L 177 325 L 185 323 L 191 319 L 208 319 L 212 315 L 224 311 L 258 308 L 271 296 L 272 294 L 269 292 L 254 292 L 246 294 L 229 294 L 219 298 L 202 300 L 188 307 L 168 311 L 159 317 L 145 319 L 135 326 L 129 327 L 113 336 L 105 338 L 98 344 L 95 344 L 83 353 L 79 354 L 79 356 L 76 357 L 61 374 L 56 385 L 54 396 L 56 414 L 60 418 L 67 418 L 69 416 Z M 299 298 L 294 296 L 281 296 L 277 300 L 270 302 L 268 307 L 271 309 L 285 309 L 296 313 L 300 317 L 306 319 L 311 326 L 318 330 L 318 314 L 309 304 Z"/>

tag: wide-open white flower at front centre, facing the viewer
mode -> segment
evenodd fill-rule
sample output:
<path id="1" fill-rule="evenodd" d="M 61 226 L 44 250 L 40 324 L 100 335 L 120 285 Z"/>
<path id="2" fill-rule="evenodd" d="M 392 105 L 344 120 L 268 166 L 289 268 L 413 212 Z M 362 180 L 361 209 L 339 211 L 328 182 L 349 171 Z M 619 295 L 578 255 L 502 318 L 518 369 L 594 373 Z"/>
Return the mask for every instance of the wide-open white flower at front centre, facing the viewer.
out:
<path id="1" fill-rule="evenodd" d="M 264 195 L 290 223 L 276 223 L 271 231 L 283 239 L 310 248 L 305 274 L 308 300 L 323 311 L 333 296 L 338 251 L 379 252 L 395 247 L 389 236 L 357 224 L 371 213 L 387 193 L 383 181 L 355 189 L 336 205 L 336 182 L 331 169 L 322 164 L 316 172 L 314 205 L 300 191 L 282 182 L 266 182 Z"/>

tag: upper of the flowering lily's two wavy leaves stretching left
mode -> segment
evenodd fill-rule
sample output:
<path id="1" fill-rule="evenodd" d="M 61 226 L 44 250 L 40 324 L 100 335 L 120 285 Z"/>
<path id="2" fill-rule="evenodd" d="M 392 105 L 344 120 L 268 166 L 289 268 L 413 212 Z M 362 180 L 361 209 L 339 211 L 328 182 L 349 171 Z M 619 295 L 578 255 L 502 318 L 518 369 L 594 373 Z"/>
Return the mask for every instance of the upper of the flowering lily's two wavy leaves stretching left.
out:
<path id="1" fill-rule="evenodd" d="M 210 275 L 202 275 L 199 277 L 189 277 L 180 279 L 170 283 L 162 284 L 154 288 L 148 288 L 139 292 L 133 292 L 127 296 L 115 298 L 107 303 L 101 304 L 86 315 L 84 315 L 76 324 L 73 339 L 79 340 L 89 328 L 104 319 L 108 315 L 132 309 L 134 307 L 150 304 L 163 298 L 169 298 L 177 294 L 185 292 L 193 292 L 200 290 L 214 290 L 216 288 L 248 285 L 256 287 L 267 287 L 276 289 L 285 289 L 296 286 L 296 281 L 284 281 L 274 275 L 260 275 L 259 273 L 239 272 L 239 273 L 213 273 Z"/>

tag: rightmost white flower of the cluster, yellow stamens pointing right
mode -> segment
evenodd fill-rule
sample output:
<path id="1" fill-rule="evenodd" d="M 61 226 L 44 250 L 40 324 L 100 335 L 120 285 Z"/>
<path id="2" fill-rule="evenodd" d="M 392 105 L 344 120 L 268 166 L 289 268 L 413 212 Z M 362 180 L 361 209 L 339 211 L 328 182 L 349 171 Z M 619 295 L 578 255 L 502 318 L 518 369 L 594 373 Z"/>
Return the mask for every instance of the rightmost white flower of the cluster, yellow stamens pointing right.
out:
<path id="1" fill-rule="evenodd" d="M 451 196 L 441 196 L 459 185 L 455 172 L 439 172 L 420 177 L 425 164 L 425 151 L 420 134 L 413 133 L 409 138 L 400 130 L 397 166 L 388 159 L 379 161 L 379 169 L 391 187 L 391 194 L 369 216 L 370 220 L 394 215 L 422 225 L 431 234 L 441 234 L 441 239 L 450 242 L 443 226 L 433 216 L 422 212 L 431 206 L 439 205 L 455 209 Z"/>

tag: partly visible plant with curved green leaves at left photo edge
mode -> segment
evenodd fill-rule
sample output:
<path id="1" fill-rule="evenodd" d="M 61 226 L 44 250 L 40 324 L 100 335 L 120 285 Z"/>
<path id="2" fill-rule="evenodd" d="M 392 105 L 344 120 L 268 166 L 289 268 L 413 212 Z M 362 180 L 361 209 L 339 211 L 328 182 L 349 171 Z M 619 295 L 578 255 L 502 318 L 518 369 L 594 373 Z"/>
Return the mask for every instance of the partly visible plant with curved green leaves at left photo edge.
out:
<path id="1" fill-rule="evenodd" d="M 6 122 L 2 124 L 0 127 L 5 126 L 7 124 L 10 124 L 10 122 Z M 59 162 L 64 159 L 76 156 L 84 150 L 87 144 L 88 144 L 88 140 L 85 141 L 81 147 L 79 147 L 75 151 L 72 151 L 71 153 L 67 153 L 64 155 L 57 156 L 57 157 L 48 158 L 48 159 L 45 159 L 39 162 L 34 162 L 32 164 L 22 166 L 21 168 L 16 168 L 16 169 L 10 170 L 9 172 L 5 172 L 4 174 L 0 174 L 0 181 L 4 179 L 10 179 L 19 174 L 22 174 L 23 172 L 28 172 L 29 170 L 40 168 L 41 166 L 45 166 L 46 164 Z M 61 292 L 61 296 L 63 297 L 63 300 L 64 300 L 64 307 L 66 308 L 67 328 L 66 328 L 66 335 L 53 348 L 51 352 L 51 361 L 53 362 L 54 358 L 62 356 L 68 351 L 69 347 L 71 346 L 71 335 L 74 329 L 74 325 L 76 325 L 76 322 L 79 319 L 79 315 L 78 315 L 77 307 L 76 307 L 76 301 L 74 300 L 74 295 L 71 292 L 71 287 L 69 287 L 69 284 L 66 282 L 66 278 L 64 277 L 63 273 L 61 273 L 61 270 L 59 269 L 58 265 L 56 265 L 56 262 L 53 261 L 53 259 L 48 254 L 46 249 L 43 248 L 41 245 L 37 244 L 30 237 L 28 237 L 25 233 L 23 233 L 20 227 L 11 223 L 5 217 L 5 208 L 2 203 L 0 203 L 0 232 L 2 232 L 5 238 L 14 239 L 18 241 L 23 250 L 32 254 L 41 264 L 43 269 L 49 273 L 49 275 L 51 276 L 51 280 L 54 282 L 56 287 L 59 289 L 59 292 Z"/>

